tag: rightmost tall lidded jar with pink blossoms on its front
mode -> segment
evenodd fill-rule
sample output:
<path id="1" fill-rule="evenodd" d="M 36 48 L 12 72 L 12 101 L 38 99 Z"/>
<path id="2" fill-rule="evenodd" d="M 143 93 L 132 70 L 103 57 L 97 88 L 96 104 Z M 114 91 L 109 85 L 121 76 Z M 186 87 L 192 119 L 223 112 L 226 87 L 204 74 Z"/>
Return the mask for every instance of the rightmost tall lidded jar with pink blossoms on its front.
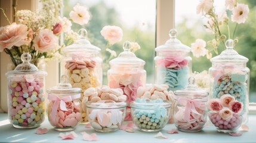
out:
<path id="1" fill-rule="evenodd" d="M 239 55 L 234 46 L 232 39 L 227 40 L 227 49 L 211 58 L 212 67 L 209 68 L 209 118 L 219 132 L 234 132 L 242 123 L 248 122 L 248 58 Z M 228 114 L 224 116 L 223 112 Z M 221 122 L 216 123 L 216 119 Z"/>

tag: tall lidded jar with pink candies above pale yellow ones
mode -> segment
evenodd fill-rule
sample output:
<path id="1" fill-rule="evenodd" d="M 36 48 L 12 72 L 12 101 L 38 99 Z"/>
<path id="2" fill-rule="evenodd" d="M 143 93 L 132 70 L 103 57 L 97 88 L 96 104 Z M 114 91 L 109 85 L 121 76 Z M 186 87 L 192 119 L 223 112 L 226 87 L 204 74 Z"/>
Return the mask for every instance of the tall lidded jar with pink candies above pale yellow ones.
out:
<path id="1" fill-rule="evenodd" d="M 69 77 L 69 83 L 73 88 L 81 88 L 82 94 L 86 89 L 102 85 L 103 71 L 102 60 L 99 57 L 100 48 L 92 45 L 87 40 L 87 30 L 78 31 L 79 39 L 72 45 L 63 48 L 63 60 L 61 60 L 61 75 Z M 88 121 L 86 108 L 82 109 L 81 123 Z"/>

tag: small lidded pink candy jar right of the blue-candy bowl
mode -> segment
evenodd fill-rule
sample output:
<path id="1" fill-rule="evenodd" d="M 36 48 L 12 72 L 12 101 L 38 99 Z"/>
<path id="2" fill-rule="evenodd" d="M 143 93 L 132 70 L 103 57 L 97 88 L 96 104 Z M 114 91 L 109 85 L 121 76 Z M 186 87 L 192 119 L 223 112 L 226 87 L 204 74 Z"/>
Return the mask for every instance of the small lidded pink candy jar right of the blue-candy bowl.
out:
<path id="1" fill-rule="evenodd" d="M 198 132 L 207 121 L 208 92 L 195 85 L 195 78 L 189 77 L 186 88 L 174 91 L 174 123 L 185 132 Z"/>

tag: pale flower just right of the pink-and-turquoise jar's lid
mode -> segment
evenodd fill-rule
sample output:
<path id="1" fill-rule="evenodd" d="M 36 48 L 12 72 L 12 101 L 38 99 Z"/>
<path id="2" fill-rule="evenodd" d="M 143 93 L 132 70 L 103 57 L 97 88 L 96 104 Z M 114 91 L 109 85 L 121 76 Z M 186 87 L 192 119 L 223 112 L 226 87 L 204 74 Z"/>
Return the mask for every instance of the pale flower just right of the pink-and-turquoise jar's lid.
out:
<path id="1" fill-rule="evenodd" d="M 195 57 L 204 56 L 206 54 L 206 42 L 203 39 L 196 39 L 195 43 L 191 44 L 191 51 Z"/>

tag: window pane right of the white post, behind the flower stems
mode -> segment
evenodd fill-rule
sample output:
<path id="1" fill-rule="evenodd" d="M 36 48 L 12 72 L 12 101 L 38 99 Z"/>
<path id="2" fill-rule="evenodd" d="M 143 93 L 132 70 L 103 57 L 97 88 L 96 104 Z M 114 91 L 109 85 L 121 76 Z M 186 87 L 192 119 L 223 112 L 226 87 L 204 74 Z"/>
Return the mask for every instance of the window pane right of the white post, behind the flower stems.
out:
<path id="1" fill-rule="evenodd" d="M 205 27 L 203 27 L 203 24 L 205 24 L 206 21 L 202 20 L 202 15 L 196 14 L 196 7 L 198 6 L 199 2 L 199 0 L 175 1 L 175 27 L 179 32 L 178 38 L 180 38 L 180 41 L 188 46 L 190 46 L 191 43 L 195 42 L 196 39 L 199 38 L 206 42 L 214 38 L 214 35 L 212 35 L 212 33 L 206 32 Z M 256 43 L 254 42 L 256 40 L 256 25 L 254 24 L 256 14 L 256 1 L 239 0 L 238 3 L 249 5 L 250 9 L 248 18 L 246 19 L 245 23 L 238 24 L 236 36 L 238 37 L 239 42 L 236 45 L 236 51 L 238 51 L 240 55 L 249 58 L 247 63 L 247 67 L 251 70 L 249 101 L 256 102 Z M 225 1 L 215 0 L 214 5 L 217 5 L 215 8 L 219 13 L 221 10 L 224 10 Z M 231 13 L 227 13 L 227 15 L 230 14 Z M 230 20 L 230 30 L 233 32 L 235 25 L 232 25 L 231 23 L 233 22 Z M 228 33 L 227 27 L 223 27 L 223 29 L 222 30 L 225 34 Z M 221 49 L 219 53 L 224 49 L 223 46 L 219 46 L 218 48 Z M 213 56 L 215 55 L 213 54 Z M 206 57 L 193 57 L 193 71 L 201 72 L 203 70 L 208 70 L 209 67 L 211 67 L 211 62 L 206 59 Z"/>

